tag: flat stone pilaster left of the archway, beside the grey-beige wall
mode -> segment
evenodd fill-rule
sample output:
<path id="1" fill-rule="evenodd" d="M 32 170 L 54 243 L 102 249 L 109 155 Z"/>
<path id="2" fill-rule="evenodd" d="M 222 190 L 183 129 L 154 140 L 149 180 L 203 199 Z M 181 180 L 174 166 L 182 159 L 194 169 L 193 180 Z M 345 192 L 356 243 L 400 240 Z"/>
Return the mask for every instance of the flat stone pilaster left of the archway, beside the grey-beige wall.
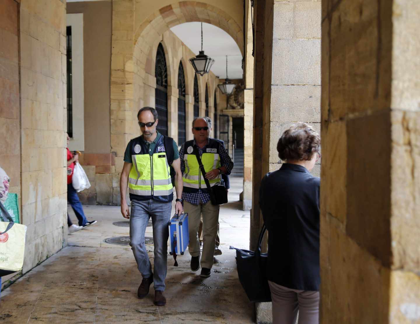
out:
<path id="1" fill-rule="evenodd" d="M 112 1 L 111 50 L 111 152 L 115 156 L 114 174 L 101 174 L 96 179 L 99 203 L 120 203 L 117 183 L 123 168 L 126 145 L 135 132 L 134 110 L 134 1 Z M 134 117 L 134 119 L 133 119 Z M 102 188 L 102 189 L 101 189 Z"/>

